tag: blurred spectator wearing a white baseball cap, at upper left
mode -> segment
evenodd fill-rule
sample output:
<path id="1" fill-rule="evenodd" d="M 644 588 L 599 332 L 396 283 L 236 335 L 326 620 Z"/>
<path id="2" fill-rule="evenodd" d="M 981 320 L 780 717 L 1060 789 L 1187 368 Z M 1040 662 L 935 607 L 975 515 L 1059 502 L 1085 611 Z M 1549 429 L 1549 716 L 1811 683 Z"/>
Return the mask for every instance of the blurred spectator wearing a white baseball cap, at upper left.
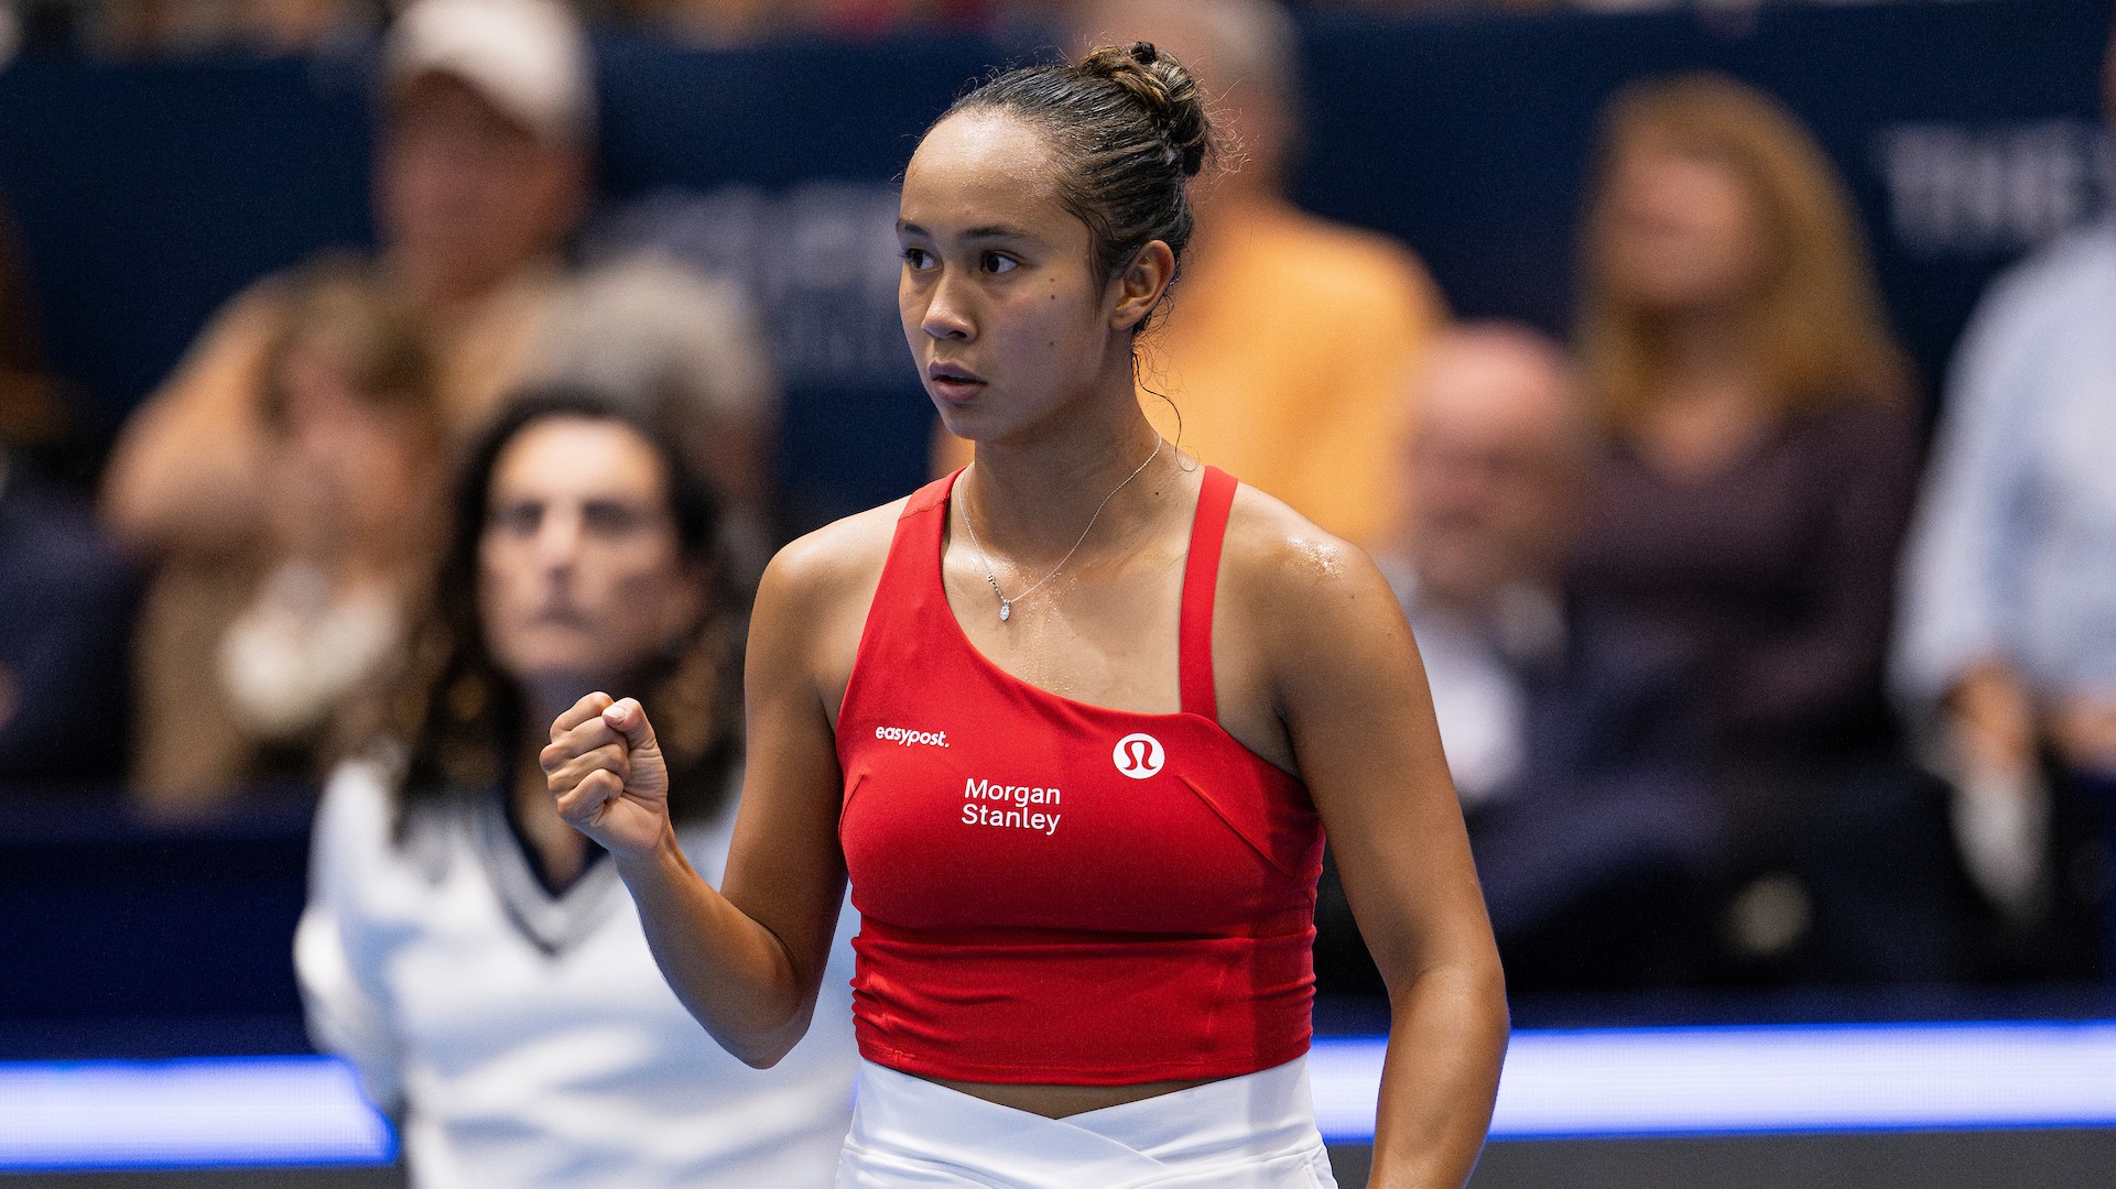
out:
<path id="1" fill-rule="evenodd" d="M 383 70 L 381 269 L 427 341 L 438 415 L 461 436 L 525 372 L 559 298 L 557 252 L 586 201 L 586 44 L 552 0 L 425 0 L 391 30 Z M 214 721 L 224 700 L 195 694 L 271 535 L 267 391 L 288 288 L 267 279 L 214 319 L 125 425 L 104 480 L 110 525 L 157 565 L 135 650 L 146 730 L 133 772 L 163 810 L 209 806 L 241 770 L 245 732 Z"/>

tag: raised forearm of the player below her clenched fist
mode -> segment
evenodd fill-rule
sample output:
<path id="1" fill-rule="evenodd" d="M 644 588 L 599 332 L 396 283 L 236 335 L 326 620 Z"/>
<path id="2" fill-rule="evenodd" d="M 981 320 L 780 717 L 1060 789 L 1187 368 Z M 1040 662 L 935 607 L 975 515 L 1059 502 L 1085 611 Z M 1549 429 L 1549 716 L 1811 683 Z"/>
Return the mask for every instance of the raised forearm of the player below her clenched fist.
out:
<path id="1" fill-rule="evenodd" d="M 618 874 L 683 1007 L 743 1062 L 779 1062 L 808 1030 L 817 980 L 770 929 L 692 870 L 673 831 L 654 853 L 618 859 Z"/>

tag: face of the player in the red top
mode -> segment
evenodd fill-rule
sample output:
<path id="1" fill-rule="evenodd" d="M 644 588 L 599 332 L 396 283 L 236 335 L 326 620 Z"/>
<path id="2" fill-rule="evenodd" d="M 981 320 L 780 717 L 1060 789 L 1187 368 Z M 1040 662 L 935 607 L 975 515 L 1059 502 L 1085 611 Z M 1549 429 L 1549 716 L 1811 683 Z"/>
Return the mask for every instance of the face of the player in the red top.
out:
<path id="1" fill-rule="evenodd" d="M 1028 125 L 959 114 L 904 171 L 897 241 L 904 339 L 950 434 L 1030 427 L 1111 366 L 1130 368 L 1117 286 L 1094 275 L 1088 224 L 1058 201 Z"/>

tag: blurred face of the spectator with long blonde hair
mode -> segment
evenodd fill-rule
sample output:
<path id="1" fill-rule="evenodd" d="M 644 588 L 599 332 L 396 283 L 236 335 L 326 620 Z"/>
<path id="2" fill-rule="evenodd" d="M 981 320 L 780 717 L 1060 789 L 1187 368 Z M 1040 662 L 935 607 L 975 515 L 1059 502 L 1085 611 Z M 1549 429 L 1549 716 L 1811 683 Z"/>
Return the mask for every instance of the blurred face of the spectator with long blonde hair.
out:
<path id="1" fill-rule="evenodd" d="M 1763 212 L 1733 167 L 1636 138 L 1610 171 L 1600 267 L 1617 300 L 1655 313 L 1727 309 L 1756 294 Z"/>

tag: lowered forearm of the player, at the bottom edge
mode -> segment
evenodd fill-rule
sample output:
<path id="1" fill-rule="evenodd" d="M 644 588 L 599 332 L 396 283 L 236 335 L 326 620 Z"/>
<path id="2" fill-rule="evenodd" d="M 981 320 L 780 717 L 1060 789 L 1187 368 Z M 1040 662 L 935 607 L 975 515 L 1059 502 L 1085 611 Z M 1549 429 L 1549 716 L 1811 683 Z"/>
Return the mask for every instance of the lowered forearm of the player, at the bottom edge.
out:
<path id="1" fill-rule="evenodd" d="M 1507 1054 L 1507 990 L 1498 967 L 1439 965 L 1394 990 L 1390 1001 L 1367 1185 L 1462 1189 L 1483 1151 Z"/>

